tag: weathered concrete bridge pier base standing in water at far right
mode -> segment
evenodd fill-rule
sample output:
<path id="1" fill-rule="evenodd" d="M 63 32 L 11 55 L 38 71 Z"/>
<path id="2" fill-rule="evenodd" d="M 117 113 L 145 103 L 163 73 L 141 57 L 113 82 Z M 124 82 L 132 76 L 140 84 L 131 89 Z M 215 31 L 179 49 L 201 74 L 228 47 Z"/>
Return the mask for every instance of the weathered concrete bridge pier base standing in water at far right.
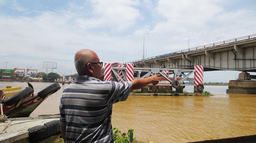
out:
<path id="1" fill-rule="evenodd" d="M 249 73 L 241 72 L 237 80 L 229 81 L 226 93 L 256 94 L 256 80 L 251 80 Z"/>

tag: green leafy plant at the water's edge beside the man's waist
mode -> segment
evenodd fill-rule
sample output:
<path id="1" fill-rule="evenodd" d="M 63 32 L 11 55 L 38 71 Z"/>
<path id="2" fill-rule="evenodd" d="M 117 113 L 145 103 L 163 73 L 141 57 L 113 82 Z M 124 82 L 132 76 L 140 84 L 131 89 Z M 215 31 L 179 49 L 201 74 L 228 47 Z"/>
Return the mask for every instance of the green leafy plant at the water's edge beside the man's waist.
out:
<path id="1" fill-rule="evenodd" d="M 128 130 L 126 134 L 118 128 L 113 128 L 114 143 L 129 143 L 130 133 L 133 133 L 133 129 Z M 136 143 L 136 138 L 133 138 L 133 142 Z"/>

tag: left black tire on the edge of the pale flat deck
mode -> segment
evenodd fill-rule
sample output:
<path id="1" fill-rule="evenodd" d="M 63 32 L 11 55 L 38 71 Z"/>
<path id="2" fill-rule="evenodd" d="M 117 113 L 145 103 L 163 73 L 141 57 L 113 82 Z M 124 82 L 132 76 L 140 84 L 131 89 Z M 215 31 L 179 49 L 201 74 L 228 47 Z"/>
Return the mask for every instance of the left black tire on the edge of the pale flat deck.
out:
<path id="1" fill-rule="evenodd" d="M 30 143 L 38 143 L 49 137 L 47 127 L 43 125 L 34 126 L 29 128 L 28 131 Z"/>

